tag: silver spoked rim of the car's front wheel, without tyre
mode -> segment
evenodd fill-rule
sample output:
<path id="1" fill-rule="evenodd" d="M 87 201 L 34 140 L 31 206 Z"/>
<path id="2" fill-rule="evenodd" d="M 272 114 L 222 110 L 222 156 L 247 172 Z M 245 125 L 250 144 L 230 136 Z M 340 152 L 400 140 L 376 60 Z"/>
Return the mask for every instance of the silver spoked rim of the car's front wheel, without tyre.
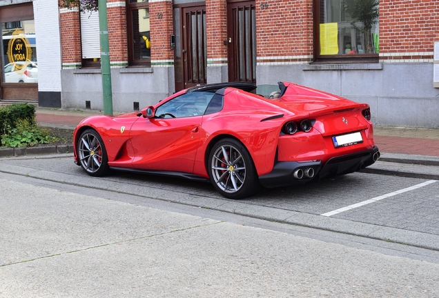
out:
<path id="1" fill-rule="evenodd" d="M 84 170 L 95 173 L 101 168 L 102 148 L 97 136 L 88 132 L 81 136 L 78 146 L 79 162 Z"/>

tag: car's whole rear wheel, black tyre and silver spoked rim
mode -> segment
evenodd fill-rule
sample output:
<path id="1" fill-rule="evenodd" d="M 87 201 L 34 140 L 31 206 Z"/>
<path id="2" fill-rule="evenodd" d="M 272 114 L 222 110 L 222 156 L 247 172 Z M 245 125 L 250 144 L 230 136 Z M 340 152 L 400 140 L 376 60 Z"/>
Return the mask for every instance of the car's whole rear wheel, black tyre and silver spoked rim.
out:
<path id="1" fill-rule="evenodd" d="M 243 199 L 253 195 L 260 184 L 248 150 L 235 139 L 215 143 L 208 159 L 213 186 L 228 199 Z"/>

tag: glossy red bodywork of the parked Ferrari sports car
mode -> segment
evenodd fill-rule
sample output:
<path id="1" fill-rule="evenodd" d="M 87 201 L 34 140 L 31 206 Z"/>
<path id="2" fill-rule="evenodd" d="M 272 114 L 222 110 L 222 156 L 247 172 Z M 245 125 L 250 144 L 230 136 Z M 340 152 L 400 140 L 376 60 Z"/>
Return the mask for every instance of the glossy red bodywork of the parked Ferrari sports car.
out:
<path id="1" fill-rule="evenodd" d="M 374 148 L 372 123 L 362 115 L 367 104 L 293 83 L 284 82 L 284 86 L 278 99 L 226 88 L 222 110 L 210 115 L 146 118 L 133 112 L 89 117 L 74 132 L 75 161 L 78 138 L 86 128 L 99 132 L 110 167 L 187 172 L 206 178 L 209 146 L 222 136 L 244 144 L 259 176 L 269 174 L 277 161 L 321 161 L 324 165 L 333 157 Z M 285 123 L 304 119 L 313 121 L 311 131 L 281 132 Z M 362 142 L 335 148 L 332 137 L 351 132 L 360 132 Z"/>

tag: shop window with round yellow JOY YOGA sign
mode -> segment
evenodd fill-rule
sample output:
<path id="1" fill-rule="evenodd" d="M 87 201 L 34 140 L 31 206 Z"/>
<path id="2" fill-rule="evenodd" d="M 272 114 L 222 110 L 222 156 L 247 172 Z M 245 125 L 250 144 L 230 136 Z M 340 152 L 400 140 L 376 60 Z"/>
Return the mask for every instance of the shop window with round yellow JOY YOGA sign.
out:
<path id="1" fill-rule="evenodd" d="M 34 20 L 1 23 L 1 31 L 1 82 L 38 83 Z"/>

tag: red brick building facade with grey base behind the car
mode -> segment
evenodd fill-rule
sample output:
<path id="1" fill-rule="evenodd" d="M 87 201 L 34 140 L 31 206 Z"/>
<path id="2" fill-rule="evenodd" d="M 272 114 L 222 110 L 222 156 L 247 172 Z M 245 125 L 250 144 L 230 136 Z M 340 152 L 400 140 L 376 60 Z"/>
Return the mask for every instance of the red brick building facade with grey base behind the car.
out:
<path id="1" fill-rule="evenodd" d="M 355 1 L 108 0 L 113 109 L 153 105 L 197 84 L 253 81 L 267 95 L 292 81 L 369 103 L 378 125 L 438 128 L 439 2 L 375 0 L 367 26 L 354 17 Z M 93 38 L 81 12 L 50 17 L 59 19 L 61 98 L 41 103 L 102 109 L 99 57 L 85 54 Z M 39 91 L 45 86 L 40 80 Z"/>

